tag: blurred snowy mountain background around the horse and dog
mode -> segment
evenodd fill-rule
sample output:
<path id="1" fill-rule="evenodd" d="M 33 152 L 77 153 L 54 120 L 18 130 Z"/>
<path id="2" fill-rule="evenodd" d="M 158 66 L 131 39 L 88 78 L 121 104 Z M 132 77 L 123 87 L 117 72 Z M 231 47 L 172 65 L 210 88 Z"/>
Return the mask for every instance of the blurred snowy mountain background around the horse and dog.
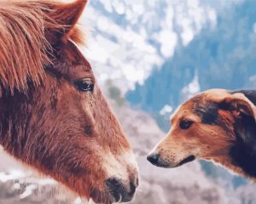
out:
<path id="1" fill-rule="evenodd" d="M 161 169 L 146 155 L 185 99 L 256 87 L 256 1 L 91 0 L 81 22 L 96 78 L 136 152 L 131 203 L 256 203 L 256 184 L 212 162 Z M 84 203 L 0 152 L 0 203 Z"/>

